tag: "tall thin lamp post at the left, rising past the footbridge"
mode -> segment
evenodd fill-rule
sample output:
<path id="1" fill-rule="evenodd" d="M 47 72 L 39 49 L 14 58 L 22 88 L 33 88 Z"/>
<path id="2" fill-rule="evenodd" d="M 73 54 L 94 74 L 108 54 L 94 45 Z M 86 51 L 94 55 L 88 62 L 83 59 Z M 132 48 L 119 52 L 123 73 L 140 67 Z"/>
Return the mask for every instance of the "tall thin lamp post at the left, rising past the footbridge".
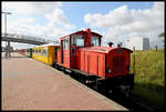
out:
<path id="1" fill-rule="evenodd" d="M 1 12 L 1 13 L 4 13 L 4 27 L 6 27 L 6 38 L 7 38 L 7 14 L 11 14 L 11 12 Z M 10 57 L 10 41 L 8 41 L 8 47 L 7 47 L 7 44 L 6 44 L 6 48 L 8 48 L 7 49 L 7 51 L 6 51 L 6 53 L 7 53 L 7 57 L 8 57 L 8 53 L 9 53 L 9 57 Z"/>

